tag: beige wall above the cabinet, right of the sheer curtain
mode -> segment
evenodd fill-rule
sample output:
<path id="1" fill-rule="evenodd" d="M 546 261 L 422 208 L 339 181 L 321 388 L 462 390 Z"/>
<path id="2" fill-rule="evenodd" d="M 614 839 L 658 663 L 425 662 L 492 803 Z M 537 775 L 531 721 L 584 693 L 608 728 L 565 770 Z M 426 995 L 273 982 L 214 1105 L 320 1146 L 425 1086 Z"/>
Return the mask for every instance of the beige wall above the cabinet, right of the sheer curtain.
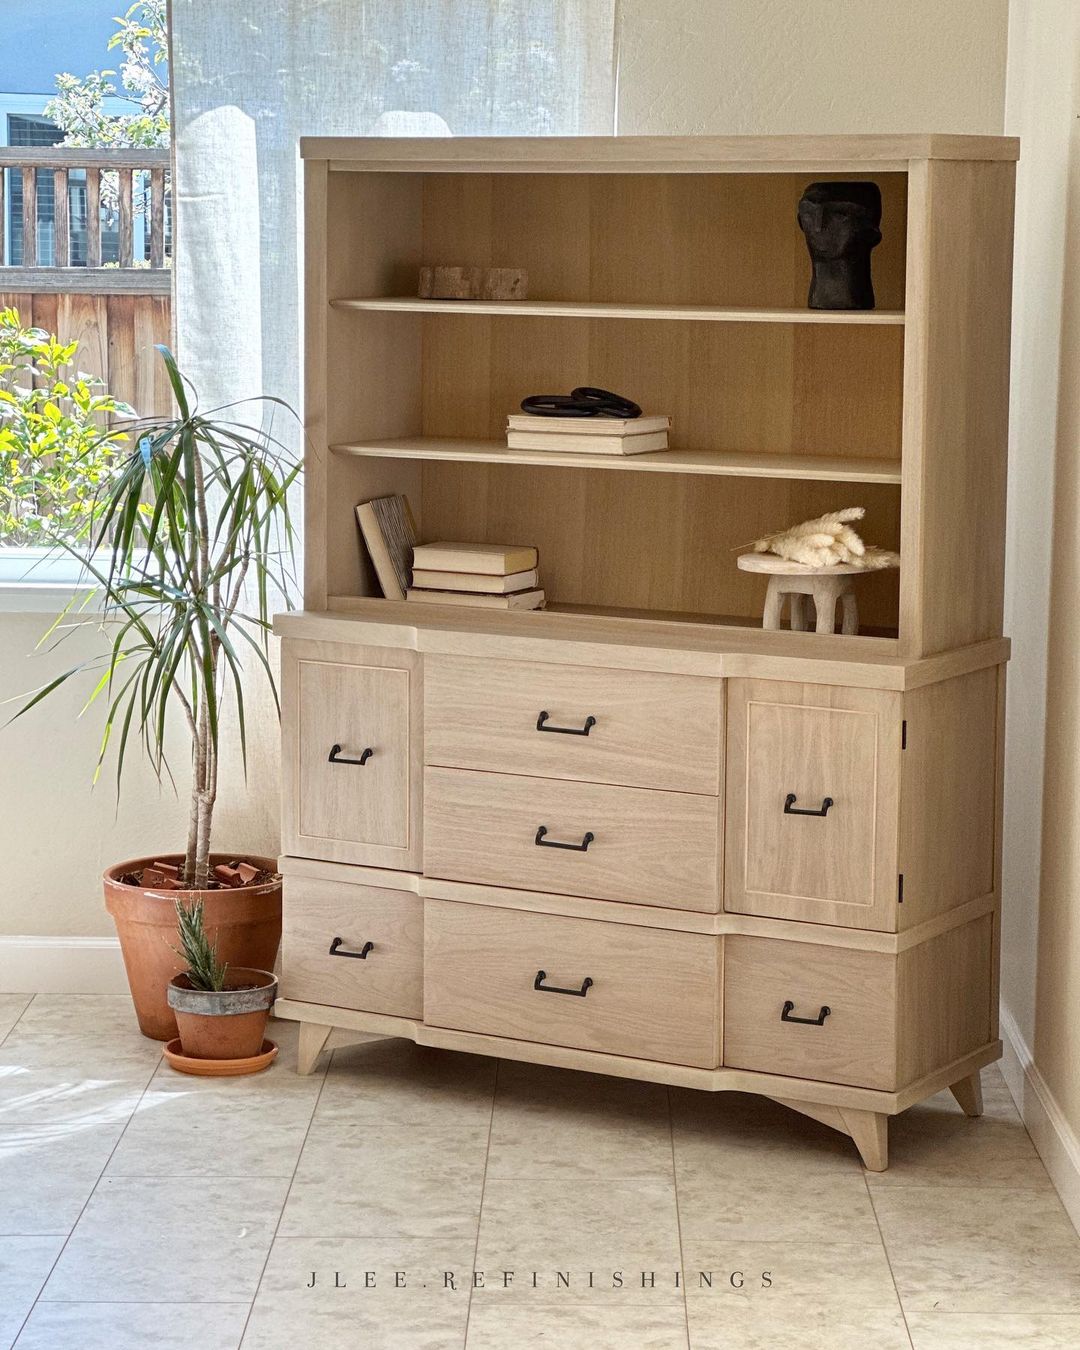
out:
<path id="1" fill-rule="evenodd" d="M 1000 132 L 1008 0 L 620 0 L 621 135 Z"/>

